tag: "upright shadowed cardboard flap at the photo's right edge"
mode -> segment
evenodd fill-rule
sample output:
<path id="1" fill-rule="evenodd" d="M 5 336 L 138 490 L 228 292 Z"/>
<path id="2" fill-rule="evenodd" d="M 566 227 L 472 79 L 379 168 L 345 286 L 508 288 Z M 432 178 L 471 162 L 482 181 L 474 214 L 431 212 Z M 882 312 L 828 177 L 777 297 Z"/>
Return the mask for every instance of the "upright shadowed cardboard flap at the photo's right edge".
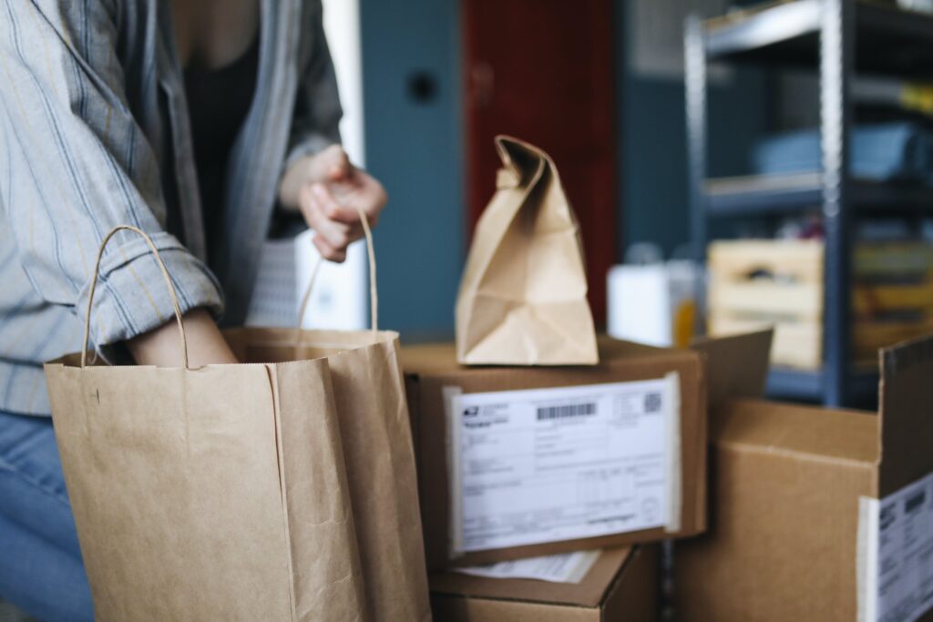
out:
<path id="1" fill-rule="evenodd" d="M 880 354 L 879 496 L 933 471 L 933 336 L 899 343 Z"/>

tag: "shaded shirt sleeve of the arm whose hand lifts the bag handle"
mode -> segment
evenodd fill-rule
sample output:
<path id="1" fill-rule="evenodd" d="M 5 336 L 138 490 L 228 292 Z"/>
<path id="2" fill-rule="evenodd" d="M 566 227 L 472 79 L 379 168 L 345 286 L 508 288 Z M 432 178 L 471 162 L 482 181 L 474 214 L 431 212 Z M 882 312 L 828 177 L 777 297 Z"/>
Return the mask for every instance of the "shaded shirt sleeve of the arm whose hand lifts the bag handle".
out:
<path id="1" fill-rule="evenodd" d="M 334 64 L 324 34 L 324 12 L 320 0 L 309 0 L 303 8 L 307 26 L 302 46 L 299 83 L 292 119 L 285 168 L 295 159 L 311 156 L 341 142 L 343 116 Z"/>

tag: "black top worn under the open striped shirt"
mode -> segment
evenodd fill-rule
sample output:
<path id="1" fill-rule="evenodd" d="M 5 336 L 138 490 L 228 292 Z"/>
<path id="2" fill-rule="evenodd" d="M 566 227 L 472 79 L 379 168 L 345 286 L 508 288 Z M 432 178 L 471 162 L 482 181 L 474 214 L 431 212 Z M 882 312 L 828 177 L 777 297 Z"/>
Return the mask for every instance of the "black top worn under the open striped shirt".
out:
<path id="1" fill-rule="evenodd" d="M 185 91 L 194 160 L 208 252 L 224 230 L 227 168 L 230 151 L 256 92 L 259 37 L 243 56 L 218 69 L 185 69 Z"/>

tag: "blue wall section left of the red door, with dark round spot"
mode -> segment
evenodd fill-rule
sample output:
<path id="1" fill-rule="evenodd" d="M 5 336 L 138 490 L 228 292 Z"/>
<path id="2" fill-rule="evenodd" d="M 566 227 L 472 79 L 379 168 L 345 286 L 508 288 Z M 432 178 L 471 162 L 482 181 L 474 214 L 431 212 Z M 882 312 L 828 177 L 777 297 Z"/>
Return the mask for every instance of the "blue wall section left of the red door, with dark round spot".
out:
<path id="1" fill-rule="evenodd" d="M 456 0 L 360 0 L 369 171 L 389 204 L 375 232 L 380 324 L 406 340 L 453 337 L 465 256 Z M 409 79 L 436 80 L 429 102 Z"/>

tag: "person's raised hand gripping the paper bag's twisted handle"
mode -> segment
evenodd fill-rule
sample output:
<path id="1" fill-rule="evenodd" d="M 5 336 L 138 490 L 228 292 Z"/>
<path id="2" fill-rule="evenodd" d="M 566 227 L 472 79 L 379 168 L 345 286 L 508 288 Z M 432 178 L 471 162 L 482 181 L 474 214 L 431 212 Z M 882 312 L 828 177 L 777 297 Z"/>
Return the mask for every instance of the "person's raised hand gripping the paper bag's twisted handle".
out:
<path id="1" fill-rule="evenodd" d="M 317 250 L 338 263 L 347 246 L 363 237 L 359 212 L 374 226 L 387 199 L 383 185 L 357 169 L 340 145 L 293 162 L 279 187 L 282 204 L 300 210 L 314 229 Z"/>

